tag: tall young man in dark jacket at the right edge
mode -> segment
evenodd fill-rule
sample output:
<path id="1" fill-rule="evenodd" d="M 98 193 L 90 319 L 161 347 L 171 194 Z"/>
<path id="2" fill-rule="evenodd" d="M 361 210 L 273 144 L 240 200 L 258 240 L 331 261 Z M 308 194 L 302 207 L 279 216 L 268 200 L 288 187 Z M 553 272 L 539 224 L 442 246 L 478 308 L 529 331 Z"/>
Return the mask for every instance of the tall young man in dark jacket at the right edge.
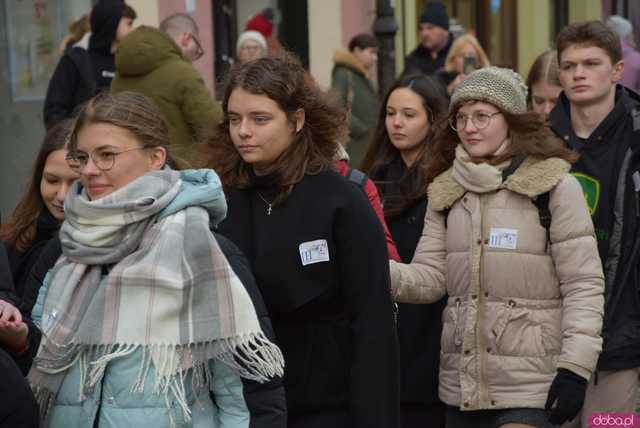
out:
<path id="1" fill-rule="evenodd" d="M 618 84 L 620 42 L 603 23 L 572 24 L 556 44 L 563 92 L 549 120 L 580 153 L 572 174 L 582 185 L 605 272 L 603 351 L 581 420 L 573 421 L 588 426 L 594 412 L 633 412 L 638 391 L 640 97 Z"/>

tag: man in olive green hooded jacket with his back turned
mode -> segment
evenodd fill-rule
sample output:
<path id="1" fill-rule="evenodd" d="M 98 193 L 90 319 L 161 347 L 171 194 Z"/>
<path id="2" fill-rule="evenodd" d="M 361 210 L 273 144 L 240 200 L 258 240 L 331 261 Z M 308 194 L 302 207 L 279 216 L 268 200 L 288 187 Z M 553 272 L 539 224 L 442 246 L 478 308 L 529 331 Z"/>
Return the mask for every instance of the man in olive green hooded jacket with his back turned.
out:
<path id="1" fill-rule="evenodd" d="M 204 55 L 198 25 L 184 13 L 165 18 L 160 28 L 141 26 L 116 52 L 114 92 L 135 91 L 152 98 L 169 122 L 174 155 L 194 162 L 195 143 L 221 118 L 192 63 Z"/>

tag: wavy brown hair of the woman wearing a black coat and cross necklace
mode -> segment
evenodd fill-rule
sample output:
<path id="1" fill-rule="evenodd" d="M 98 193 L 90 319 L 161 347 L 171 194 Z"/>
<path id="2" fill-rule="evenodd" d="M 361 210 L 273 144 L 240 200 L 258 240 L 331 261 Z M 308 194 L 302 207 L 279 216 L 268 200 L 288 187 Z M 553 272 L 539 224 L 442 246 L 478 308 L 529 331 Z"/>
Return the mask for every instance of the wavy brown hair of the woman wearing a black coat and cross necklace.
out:
<path id="1" fill-rule="evenodd" d="M 270 98 L 294 125 L 295 112 L 304 110 L 302 129 L 267 169 L 277 187 L 273 202 L 277 205 L 305 174 L 331 168 L 338 141 L 346 132 L 346 113 L 336 99 L 318 88 L 290 53 L 237 64 L 225 84 L 223 121 L 205 140 L 206 165 L 218 173 L 225 190 L 251 187 L 255 177 L 252 166 L 242 160 L 229 133 L 229 98 L 237 88 Z"/>

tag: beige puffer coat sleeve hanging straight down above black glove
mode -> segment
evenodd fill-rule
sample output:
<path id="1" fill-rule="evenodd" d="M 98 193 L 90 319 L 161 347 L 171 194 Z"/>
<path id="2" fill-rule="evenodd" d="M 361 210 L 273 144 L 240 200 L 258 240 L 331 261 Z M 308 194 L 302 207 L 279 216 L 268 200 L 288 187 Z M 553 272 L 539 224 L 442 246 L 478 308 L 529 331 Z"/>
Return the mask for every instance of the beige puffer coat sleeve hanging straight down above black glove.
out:
<path id="1" fill-rule="evenodd" d="M 604 275 L 593 223 L 578 181 L 566 175 L 551 191 L 551 255 L 562 295 L 558 367 L 586 378 L 602 350 Z"/>

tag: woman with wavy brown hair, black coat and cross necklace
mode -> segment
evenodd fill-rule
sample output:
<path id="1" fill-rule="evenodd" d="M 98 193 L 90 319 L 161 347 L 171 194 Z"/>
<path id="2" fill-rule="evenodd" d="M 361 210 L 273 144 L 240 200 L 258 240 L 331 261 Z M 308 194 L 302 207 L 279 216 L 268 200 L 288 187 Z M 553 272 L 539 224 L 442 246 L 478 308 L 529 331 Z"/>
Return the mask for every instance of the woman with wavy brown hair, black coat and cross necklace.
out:
<path id="1" fill-rule="evenodd" d="M 396 427 L 397 343 L 382 227 L 332 168 L 345 113 L 289 56 L 229 74 L 209 166 L 219 231 L 247 255 L 285 361 L 289 427 Z"/>

